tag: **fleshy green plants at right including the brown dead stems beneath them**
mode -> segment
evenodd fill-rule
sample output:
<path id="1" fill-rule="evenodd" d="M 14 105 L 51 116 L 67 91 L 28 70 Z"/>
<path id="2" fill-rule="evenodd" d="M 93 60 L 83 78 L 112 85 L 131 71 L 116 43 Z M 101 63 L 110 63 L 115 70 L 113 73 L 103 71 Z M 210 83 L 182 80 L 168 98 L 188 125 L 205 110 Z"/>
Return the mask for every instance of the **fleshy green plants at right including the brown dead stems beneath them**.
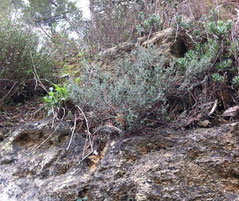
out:
<path id="1" fill-rule="evenodd" d="M 174 26 L 177 34 L 187 41 L 189 49 L 176 62 L 183 80 L 177 100 L 185 102 L 188 96 L 186 108 L 190 108 L 182 110 L 179 107 L 175 116 L 182 112 L 184 118 L 188 115 L 198 120 L 207 113 L 203 111 L 203 105 L 215 100 L 219 101 L 220 111 L 217 114 L 220 114 L 230 104 L 236 103 L 237 91 L 234 89 L 239 86 L 236 68 L 238 49 L 237 40 L 232 38 L 232 20 L 223 20 L 218 12 L 212 10 L 210 15 L 202 16 L 198 22 L 178 16 Z M 172 108 L 170 110 L 176 112 Z"/>

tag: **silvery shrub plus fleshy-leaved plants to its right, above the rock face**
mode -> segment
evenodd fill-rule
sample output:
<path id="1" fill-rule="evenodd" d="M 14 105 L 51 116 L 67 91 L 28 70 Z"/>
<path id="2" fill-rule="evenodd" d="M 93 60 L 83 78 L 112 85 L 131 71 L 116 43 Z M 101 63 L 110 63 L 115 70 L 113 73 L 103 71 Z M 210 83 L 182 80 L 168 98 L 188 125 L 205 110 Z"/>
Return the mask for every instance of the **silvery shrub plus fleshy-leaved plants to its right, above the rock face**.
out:
<path id="1" fill-rule="evenodd" d="M 142 12 L 138 17 L 144 18 Z M 152 30 L 162 29 L 160 19 L 153 13 L 137 27 L 148 30 L 144 32 L 150 37 Z M 152 45 L 138 46 L 115 61 L 113 68 L 91 65 L 84 58 L 77 84 L 68 83 L 68 100 L 84 111 L 93 111 L 91 118 L 97 125 L 110 122 L 122 130 L 169 122 L 184 127 L 218 118 L 237 103 L 235 22 L 212 9 L 197 22 L 178 15 L 171 26 L 175 37 L 185 39 L 183 57 L 169 60 Z M 215 101 L 217 107 L 212 111 Z"/>

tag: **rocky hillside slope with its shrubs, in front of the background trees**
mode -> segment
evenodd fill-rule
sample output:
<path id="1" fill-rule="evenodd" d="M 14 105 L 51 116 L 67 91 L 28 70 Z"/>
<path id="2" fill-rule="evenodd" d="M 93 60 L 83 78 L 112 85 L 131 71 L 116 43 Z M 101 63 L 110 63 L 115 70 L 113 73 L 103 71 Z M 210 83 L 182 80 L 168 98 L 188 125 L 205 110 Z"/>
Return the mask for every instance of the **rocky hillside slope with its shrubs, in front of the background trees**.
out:
<path id="1" fill-rule="evenodd" d="M 95 24 L 102 33 L 88 36 L 89 50 L 61 62 L 32 45 L 20 66 L 27 80 L 21 68 L 7 71 L 16 80 L 0 93 L 0 201 L 239 200 L 238 21 L 211 6 L 197 13 L 192 2 L 180 1 L 177 12 L 149 3 L 164 18 L 137 13 L 137 34 L 127 24 L 123 43 Z M 56 77 L 43 79 L 51 73 L 42 60 L 58 67 Z M 8 113 L 11 104 L 19 105 Z"/>

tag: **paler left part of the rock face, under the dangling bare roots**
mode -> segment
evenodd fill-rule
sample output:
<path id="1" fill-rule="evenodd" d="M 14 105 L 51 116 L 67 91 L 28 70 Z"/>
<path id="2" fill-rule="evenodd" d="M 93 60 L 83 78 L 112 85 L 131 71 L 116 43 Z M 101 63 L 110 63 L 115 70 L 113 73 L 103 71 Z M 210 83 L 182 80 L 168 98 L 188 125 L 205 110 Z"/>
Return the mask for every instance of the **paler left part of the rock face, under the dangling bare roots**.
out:
<path id="1" fill-rule="evenodd" d="M 78 190 L 88 183 L 77 169 L 84 139 L 75 135 L 70 150 L 66 151 L 71 134 L 69 125 L 61 123 L 54 135 L 36 150 L 52 133 L 49 125 L 49 120 L 24 125 L 0 143 L 1 201 L 75 200 Z"/>

